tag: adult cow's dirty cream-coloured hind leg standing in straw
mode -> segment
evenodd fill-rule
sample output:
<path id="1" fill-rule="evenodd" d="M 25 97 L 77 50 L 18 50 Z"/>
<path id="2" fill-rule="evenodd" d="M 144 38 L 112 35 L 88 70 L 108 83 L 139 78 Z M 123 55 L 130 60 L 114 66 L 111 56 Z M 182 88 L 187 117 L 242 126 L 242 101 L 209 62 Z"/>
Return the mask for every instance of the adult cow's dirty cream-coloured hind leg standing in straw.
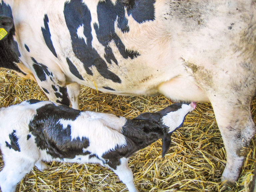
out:
<path id="1" fill-rule="evenodd" d="M 249 101 L 250 99 L 242 98 L 232 98 L 232 101 L 223 98 L 212 101 L 227 154 L 222 181 L 226 180 L 228 185 L 235 184 L 238 180 L 250 140 L 255 134 Z"/>

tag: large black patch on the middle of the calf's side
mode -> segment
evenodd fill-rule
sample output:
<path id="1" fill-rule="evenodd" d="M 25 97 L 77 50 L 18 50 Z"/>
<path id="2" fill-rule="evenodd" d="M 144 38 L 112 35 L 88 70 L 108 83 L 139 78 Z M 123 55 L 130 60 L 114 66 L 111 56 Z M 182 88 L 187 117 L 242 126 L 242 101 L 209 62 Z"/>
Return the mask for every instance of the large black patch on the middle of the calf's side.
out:
<path id="1" fill-rule="evenodd" d="M 79 110 L 65 105 L 56 107 L 48 104 L 38 108 L 37 114 L 29 123 L 29 131 L 35 136 L 37 147 L 47 149 L 49 155 L 60 159 L 90 154 L 88 151 L 83 152 L 89 146 L 89 140 L 86 137 L 71 140 L 71 126 L 63 127 L 59 123 L 60 119 L 74 121 L 79 115 Z"/>

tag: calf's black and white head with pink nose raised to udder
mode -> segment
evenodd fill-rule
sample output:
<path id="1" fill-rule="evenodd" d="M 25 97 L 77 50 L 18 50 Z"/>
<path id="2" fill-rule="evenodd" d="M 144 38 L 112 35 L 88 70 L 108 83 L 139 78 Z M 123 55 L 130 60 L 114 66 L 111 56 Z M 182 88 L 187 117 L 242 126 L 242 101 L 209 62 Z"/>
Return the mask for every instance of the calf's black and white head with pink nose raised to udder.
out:
<path id="1" fill-rule="evenodd" d="M 167 153 L 171 144 L 171 134 L 182 127 L 186 115 L 196 108 L 196 103 L 175 103 L 155 113 L 142 113 L 134 120 L 149 120 L 160 124 L 163 130 L 162 157 Z"/>

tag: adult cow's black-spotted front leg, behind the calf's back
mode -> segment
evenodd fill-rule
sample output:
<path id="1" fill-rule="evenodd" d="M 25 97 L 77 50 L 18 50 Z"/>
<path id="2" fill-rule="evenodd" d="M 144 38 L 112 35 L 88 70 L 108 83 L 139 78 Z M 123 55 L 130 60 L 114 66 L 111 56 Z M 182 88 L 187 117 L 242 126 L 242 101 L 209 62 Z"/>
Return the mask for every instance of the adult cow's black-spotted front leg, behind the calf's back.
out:
<path id="1" fill-rule="evenodd" d="M 47 67 L 34 58 L 32 61 L 35 79 L 50 101 L 70 106 L 66 78 L 60 68 L 57 65 Z"/>

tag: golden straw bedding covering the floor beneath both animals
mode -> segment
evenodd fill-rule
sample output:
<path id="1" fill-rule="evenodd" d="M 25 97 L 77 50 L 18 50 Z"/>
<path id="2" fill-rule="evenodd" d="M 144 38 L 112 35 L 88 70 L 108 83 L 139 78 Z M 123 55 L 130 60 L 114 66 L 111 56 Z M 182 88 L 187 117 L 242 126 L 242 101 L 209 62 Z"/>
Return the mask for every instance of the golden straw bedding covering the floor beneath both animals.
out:
<path id="1" fill-rule="evenodd" d="M 0 69 L 0 107 L 20 103 L 27 99 L 48 100 L 37 84 L 17 76 L 11 70 Z M 81 86 L 81 110 L 113 113 L 128 118 L 139 113 L 158 111 L 172 102 L 163 96 L 125 97 L 97 93 Z M 256 122 L 256 98 L 252 102 L 252 116 Z M 140 191 L 249 191 L 255 166 L 256 137 L 244 161 L 242 171 L 233 188 L 224 188 L 220 177 L 225 165 L 225 149 L 212 107 L 198 103 L 185 119 L 184 127 L 172 135 L 172 146 L 161 158 L 161 140 L 138 151 L 129 161 L 134 183 Z M 126 186 L 109 169 L 92 164 L 48 162 L 44 172 L 34 168 L 18 184 L 21 192 L 65 191 L 127 191 Z M 0 169 L 3 167 L 2 158 Z"/>

